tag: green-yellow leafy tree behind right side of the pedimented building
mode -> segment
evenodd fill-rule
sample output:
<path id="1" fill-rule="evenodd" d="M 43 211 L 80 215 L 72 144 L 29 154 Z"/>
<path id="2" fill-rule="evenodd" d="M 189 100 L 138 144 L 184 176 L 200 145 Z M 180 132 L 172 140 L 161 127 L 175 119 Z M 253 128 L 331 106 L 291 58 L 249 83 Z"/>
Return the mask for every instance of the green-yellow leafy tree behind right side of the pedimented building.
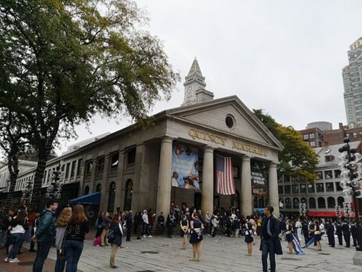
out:
<path id="1" fill-rule="evenodd" d="M 315 182 L 317 176 L 313 170 L 317 166 L 319 156 L 302 140 L 299 131 L 278 124 L 262 109 L 253 109 L 253 112 L 284 146 L 278 154 L 278 172 L 292 177 L 296 182 Z"/>

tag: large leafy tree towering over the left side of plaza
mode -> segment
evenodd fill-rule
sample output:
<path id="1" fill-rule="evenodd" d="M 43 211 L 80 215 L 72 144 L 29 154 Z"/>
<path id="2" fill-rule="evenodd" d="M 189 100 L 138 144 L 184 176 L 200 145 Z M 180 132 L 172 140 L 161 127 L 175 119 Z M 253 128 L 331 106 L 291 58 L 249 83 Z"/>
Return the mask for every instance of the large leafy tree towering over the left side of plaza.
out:
<path id="1" fill-rule="evenodd" d="M 59 137 L 95 114 L 142 125 L 170 98 L 179 75 L 146 21 L 130 0 L 1 1 L 0 110 L 21 116 L 38 153 L 33 206 Z"/>

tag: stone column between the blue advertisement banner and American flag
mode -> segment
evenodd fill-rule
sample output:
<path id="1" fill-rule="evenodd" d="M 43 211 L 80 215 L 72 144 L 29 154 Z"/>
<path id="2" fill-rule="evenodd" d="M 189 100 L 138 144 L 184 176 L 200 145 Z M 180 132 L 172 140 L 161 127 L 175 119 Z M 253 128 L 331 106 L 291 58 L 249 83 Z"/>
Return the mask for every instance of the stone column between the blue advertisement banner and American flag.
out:
<path id="1" fill-rule="evenodd" d="M 201 211 L 214 211 L 214 149 L 206 146 L 203 153 L 203 182 L 201 185 Z"/>

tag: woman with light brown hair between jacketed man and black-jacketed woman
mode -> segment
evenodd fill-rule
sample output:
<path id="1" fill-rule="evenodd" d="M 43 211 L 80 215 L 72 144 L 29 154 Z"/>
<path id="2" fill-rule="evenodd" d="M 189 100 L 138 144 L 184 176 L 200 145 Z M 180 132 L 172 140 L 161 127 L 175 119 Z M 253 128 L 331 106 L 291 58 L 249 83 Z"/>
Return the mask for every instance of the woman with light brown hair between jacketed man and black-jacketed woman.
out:
<path id="1" fill-rule="evenodd" d="M 72 208 L 65 207 L 61 214 L 56 219 L 56 234 L 55 234 L 55 246 L 56 246 L 56 263 L 54 267 L 54 272 L 63 272 L 65 266 L 65 254 L 64 254 L 64 233 L 65 229 L 70 221 L 70 216 L 72 216 Z"/>

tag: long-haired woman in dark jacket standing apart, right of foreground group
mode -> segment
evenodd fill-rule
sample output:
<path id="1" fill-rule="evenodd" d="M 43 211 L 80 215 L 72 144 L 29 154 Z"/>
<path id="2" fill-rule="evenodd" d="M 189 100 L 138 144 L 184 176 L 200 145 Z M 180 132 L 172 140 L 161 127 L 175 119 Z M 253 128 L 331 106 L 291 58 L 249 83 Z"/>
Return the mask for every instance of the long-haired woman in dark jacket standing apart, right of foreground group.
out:
<path id="1" fill-rule="evenodd" d="M 118 251 L 118 248 L 122 245 L 122 236 L 123 236 L 123 230 L 122 225 L 120 221 L 120 215 L 115 214 L 112 217 L 112 223 L 111 227 L 109 227 L 109 236 L 108 241 L 111 243 L 111 258 L 109 259 L 109 267 L 112 269 L 116 269 L 118 266 L 114 264 L 114 259 L 116 259 L 116 253 Z"/>

